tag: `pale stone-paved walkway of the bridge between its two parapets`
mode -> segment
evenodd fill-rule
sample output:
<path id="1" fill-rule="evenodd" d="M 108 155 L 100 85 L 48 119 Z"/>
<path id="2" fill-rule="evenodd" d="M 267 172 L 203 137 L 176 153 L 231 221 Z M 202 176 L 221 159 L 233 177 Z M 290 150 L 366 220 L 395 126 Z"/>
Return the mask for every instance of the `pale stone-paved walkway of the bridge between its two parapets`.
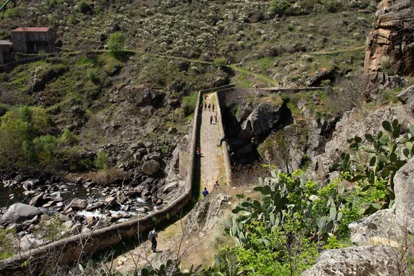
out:
<path id="1" fill-rule="evenodd" d="M 201 150 L 201 189 L 207 188 L 209 192 L 213 190 L 215 181 L 219 184 L 224 184 L 224 161 L 223 150 L 219 145 L 220 132 L 219 124 L 215 122 L 215 115 L 217 115 L 217 95 L 216 93 L 206 94 L 207 98 L 203 96 L 203 110 L 201 111 L 201 127 L 200 127 L 200 150 Z M 204 108 L 204 103 L 216 106 L 213 108 Z M 219 115 L 217 115 L 219 116 Z M 213 122 L 210 124 L 210 119 L 213 117 Z"/>

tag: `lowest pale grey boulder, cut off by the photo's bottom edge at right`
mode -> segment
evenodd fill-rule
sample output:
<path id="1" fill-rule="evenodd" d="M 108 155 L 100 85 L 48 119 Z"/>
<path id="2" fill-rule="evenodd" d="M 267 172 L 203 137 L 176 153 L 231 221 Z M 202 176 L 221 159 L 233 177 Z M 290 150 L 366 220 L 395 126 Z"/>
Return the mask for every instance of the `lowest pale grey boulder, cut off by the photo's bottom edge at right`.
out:
<path id="1" fill-rule="evenodd" d="M 400 275 L 395 250 L 389 246 L 352 246 L 325 250 L 302 276 Z"/>

